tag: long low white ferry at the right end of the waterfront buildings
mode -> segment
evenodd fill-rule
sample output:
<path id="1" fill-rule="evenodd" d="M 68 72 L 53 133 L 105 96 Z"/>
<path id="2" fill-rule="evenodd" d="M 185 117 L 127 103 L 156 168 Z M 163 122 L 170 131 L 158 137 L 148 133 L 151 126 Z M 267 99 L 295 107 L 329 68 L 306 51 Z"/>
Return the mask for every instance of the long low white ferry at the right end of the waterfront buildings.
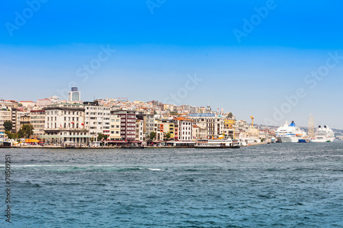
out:
<path id="1" fill-rule="evenodd" d="M 240 148 L 241 142 L 239 140 L 226 139 L 206 139 L 196 141 L 196 148 L 206 149 L 220 149 L 220 148 Z"/>

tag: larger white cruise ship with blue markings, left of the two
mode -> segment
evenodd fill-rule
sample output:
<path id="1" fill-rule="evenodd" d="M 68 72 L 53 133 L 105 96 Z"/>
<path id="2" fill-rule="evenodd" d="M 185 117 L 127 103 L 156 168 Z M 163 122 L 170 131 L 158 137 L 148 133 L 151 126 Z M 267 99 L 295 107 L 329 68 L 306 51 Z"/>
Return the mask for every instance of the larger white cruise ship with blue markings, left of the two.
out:
<path id="1" fill-rule="evenodd" d="M 279 127 L 276 131 L 276 140 L 278 142 L 299 142 L 306 136 L 306 132 L 296 127 L 294 121 L 290 125 L 288 122 L 285 122 L 285 125 Z"/>

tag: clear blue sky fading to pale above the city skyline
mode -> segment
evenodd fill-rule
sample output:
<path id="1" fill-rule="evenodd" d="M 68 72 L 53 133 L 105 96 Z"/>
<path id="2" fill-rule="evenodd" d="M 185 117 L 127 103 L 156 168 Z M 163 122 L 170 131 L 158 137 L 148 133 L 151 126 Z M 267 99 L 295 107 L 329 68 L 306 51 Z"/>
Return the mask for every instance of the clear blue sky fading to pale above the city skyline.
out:
<path id="1" fill-rule="evenodd" d="M 0 98 L 65 97 L 74 84 L 84 101 L 209 103 L 273 125 L 307 126 L 312 113 L 343 129 L 342 8 L 338 0 L 3 1 Z"/>

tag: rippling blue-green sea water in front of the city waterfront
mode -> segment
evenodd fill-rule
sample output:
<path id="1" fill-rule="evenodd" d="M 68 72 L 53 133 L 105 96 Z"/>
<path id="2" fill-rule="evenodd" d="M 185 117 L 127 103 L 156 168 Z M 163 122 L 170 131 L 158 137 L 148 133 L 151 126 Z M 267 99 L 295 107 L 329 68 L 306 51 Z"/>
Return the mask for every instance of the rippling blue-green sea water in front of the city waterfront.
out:
<path id="1" fill-rule="evenodd" d="M 1 227 L 343 227 L 343 142 L 0 149 Z"/>

